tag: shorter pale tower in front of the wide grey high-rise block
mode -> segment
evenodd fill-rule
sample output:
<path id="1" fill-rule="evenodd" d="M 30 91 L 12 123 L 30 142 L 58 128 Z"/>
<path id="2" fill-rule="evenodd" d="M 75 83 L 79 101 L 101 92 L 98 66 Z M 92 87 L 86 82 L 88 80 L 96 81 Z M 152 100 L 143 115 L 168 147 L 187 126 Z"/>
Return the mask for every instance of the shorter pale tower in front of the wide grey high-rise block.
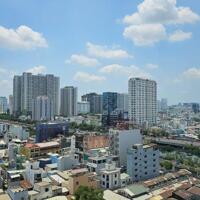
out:
<path id="1" fill-rule="evenodd" d="M 33 100 L 32 120 L 46 121 L 53 120 L 53 102 L 47 96 L 38 96 Z"/>

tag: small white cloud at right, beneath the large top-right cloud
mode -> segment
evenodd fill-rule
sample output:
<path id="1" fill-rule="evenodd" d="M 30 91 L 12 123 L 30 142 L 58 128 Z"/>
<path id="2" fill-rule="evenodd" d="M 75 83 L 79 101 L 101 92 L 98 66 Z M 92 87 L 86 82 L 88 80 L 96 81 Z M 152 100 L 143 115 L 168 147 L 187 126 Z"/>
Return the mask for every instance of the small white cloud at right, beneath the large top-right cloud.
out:
<path id="1" fill-rule="evenodd" d="M 191 32 L 184 32 L 182 30 L 176 30 L 174 33 L 172 33 L 169 36 L 169 41 L 171 41 L 171 42 L 183 41 L 183 40 L 188 40 L 191 37 L 192 37 Z"/>

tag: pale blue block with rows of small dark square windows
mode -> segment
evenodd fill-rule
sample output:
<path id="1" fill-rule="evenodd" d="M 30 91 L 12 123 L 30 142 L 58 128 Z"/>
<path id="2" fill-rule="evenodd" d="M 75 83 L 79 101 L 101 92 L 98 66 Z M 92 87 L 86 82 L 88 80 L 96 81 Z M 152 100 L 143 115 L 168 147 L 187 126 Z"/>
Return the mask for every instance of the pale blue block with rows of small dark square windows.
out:
<path id="1" fill-rule="evenodd" d="M 155 144 L 135 144 L 127 150 L 127 173 L 132 181 L 156 177 L 160 170 L 160 152 Z"/>

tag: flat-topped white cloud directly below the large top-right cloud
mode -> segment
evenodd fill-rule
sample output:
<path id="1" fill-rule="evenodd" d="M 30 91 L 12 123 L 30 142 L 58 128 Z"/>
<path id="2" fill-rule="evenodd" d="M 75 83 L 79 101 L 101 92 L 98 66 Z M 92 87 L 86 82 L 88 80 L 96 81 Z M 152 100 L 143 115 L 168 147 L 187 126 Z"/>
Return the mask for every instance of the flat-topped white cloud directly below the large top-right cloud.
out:
<path id="1" fill-rule="evenodd" d="M 123 35 L 138 46 L 151 46 L 167 37 L 162 24 L 131 25 L 125 28 Z"/>

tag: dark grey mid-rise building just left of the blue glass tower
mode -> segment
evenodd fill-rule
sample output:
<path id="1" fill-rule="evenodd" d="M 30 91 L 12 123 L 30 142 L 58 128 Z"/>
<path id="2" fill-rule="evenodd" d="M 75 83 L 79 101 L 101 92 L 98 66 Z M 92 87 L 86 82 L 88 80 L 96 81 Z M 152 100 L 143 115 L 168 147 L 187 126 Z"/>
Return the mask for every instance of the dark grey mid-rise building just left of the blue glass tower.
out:
<path id="1" fill-rule="evenodd" d="M 102 113 L 102 95 L 96 93 L 88 93 L 81 97 L 82 101 L 90 103 L 90 113 Z"/>

